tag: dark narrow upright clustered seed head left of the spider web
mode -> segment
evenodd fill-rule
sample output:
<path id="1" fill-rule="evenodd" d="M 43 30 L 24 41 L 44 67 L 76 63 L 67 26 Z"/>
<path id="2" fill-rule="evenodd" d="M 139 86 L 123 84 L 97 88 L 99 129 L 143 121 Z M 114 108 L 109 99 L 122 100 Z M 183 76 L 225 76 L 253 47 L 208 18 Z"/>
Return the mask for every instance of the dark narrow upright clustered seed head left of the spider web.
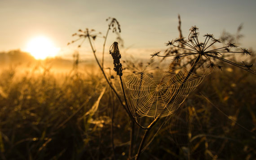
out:
<path id="1" fill-rule="evenodd" d="M 119 52 L 118 43 L 114 42 L 110 46 L 109 54 L 111 54 L 113 60 L 114 60 L 114 70 L 117 75 L 122 76 L 122 71 L 124 70 L 122 67 L 122 64 L 120 63 L 121 54 Z"/>

